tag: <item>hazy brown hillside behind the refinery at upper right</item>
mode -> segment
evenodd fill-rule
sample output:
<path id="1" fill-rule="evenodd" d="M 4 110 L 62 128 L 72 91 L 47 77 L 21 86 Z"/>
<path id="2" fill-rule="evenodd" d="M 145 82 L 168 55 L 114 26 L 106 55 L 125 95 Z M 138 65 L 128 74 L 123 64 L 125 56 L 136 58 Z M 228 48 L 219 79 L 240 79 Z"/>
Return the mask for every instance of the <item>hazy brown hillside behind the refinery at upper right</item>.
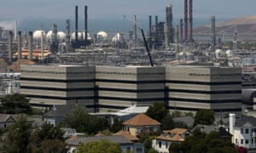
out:
<path id="1" fill-rule="evenodd" d="M 256 34 L 256 15 L 244 16 L 232 20 L 226 20 L 216 23 L 216 33 L 233 34 L 237 29 L 239 34 L 254 35 Z M 195 27 L 194 34 L 211 34 L 211 26 Z"/>

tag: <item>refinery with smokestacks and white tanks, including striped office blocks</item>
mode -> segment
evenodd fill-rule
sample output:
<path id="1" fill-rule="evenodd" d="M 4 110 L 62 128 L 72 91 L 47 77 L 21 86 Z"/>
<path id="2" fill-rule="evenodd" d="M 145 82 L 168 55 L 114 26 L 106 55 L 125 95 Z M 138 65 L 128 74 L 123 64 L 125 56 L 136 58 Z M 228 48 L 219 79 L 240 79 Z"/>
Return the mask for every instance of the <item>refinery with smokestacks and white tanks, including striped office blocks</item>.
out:
<path id="1" fill-rule="evenodd" d="M 145 35 L 136 14 L 128 34 L 117 31 L 112 38 L 107 31 L 90 34 L 86 5 L 83 30 L 79 30 L 79 6 L 74 31 L 69 19 L 66 31 L 58 31 L 55 23 L 50 31 L 17 31 L 16 21 L 15 31 L 0 27 L 6 61 L 2 70 L 19 73 L 17 79 L 1 77 L 1 88 L 14 89 L 12 82 L 19 82 L 15 92 L 26 94 L 33 106 L 41 108 L 82 104 L 101 112 L 164 102 L 169 111 L 212 109 L 240 116 L 242 105 L 254 110 L 255 53 L 238 46 L 236 28 L 230 42 L 217 41 L 212 16 L 209 39 L 201 41 L 193 34 L 193 1 L 184 0 L 178 25 L 173 24 L 172 7 L 163 8 L 165 21 L 155 15 L 153 23 L 148 15 Z"/>

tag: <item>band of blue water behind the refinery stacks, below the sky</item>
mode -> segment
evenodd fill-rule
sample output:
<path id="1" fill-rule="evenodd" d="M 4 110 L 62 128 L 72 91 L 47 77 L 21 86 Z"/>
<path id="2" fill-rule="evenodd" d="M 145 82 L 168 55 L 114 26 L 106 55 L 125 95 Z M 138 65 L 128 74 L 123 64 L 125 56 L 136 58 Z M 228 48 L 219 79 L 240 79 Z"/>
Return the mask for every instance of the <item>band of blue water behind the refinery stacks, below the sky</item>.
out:
<path id="1" fill-rule="evenodd" d="M 159 20 L 164 21 L 165 20 Z M 36 31 L 38 29 L 43 29 L 44 31 L 49 31 L 52 29 L 53 24 L 57 25 L 58 31 L 66 31 L 66 19 L 28 19 L 28 20 L 18 20 L 18 31 Z M 173 22 L 173 25 L 176 26 L 178 23 Z M 193 21 L 194 27 L 209 25 L 210 20 L 208 19 L 195 19 Z M 152 18 L 152 25 L 154 25 L 154 18 Z M 0 20 L 0 26 L 8 26 L 8 28 L 13 29 L 14 21 L 13 20 Z M 96 34 L 97 31 L 106 31 L 111 36 L 116 31 L 123 31 L 128 33 L 131 30 L 131 20 L 125 19 L 89 19 L 88 20 L 88 30 L 91 35 Z M 137 27 L 142 27 L 144 31 L 148 31 L 148 19 L 137 19 Z M 8 29 L 5 28 L 5 29 Z M 74 19 L 70 20 L 71 31 L 75 29 Z M 79 19 L 79 31 L 84 31 L 84 19 Z"/>

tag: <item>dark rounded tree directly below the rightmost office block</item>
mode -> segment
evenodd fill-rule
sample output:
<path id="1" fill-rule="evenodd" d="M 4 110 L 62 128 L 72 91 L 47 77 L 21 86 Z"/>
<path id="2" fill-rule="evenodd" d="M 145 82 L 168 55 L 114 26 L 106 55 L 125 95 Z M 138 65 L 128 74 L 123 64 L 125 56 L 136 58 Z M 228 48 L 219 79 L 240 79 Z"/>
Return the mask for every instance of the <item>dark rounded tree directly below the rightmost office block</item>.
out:
<path id="1" fill-rule="evenodd" d="M 212 110 L 200 110 L 195 114 L 194 127 L 197 124 L 211 125 L 214 122 L 214 111 Z"/>

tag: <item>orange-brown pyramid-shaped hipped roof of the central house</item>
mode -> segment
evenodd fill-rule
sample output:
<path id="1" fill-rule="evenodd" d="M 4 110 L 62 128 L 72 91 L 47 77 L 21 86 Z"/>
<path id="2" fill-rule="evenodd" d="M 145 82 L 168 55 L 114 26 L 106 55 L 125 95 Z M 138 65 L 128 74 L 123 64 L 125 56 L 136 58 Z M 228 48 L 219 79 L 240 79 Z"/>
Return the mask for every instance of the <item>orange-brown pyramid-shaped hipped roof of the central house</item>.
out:
<path id="1" fill-rule="evenodd" d="M 123 122 L 123 125 L 131 126 L 149 126 L 149 125 L 160 125 L 161 123 L 146 116 L 145 114 L 138 114 L 132 117 L 130 120 Z"/>

